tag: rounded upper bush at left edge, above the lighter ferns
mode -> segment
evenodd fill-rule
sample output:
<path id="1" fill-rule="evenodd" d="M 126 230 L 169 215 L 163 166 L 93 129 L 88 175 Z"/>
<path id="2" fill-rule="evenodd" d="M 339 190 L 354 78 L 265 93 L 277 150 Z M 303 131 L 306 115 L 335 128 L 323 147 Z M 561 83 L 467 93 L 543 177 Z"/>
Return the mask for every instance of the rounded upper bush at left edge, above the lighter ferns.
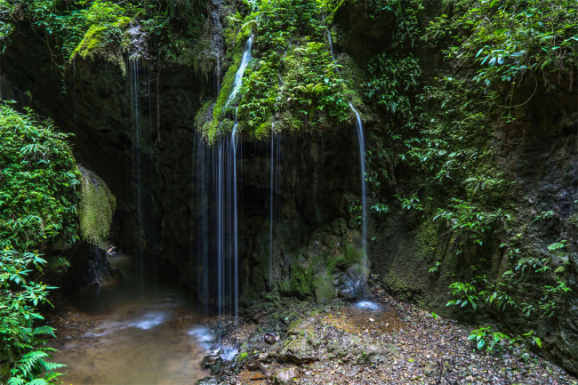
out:
<path id="1" fill-rule="evenodd" d="M 76 239 L 79 173 L 67 137 L 30 110 L 0 106 L 0 247 Z"/>

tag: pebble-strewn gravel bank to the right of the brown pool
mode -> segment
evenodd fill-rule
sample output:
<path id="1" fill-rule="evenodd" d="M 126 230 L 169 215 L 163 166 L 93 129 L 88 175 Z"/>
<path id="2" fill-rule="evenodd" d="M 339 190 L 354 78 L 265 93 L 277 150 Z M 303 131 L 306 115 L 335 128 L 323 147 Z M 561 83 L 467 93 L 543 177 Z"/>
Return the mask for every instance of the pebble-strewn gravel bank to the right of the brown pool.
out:
<path id="1" fill-rule="evenodd" d="M 248 309 L 237 330 L 213 331 L 237 356 L 197 381 L 208 384 L 576 384 L 576 378 L 520 344 L 478 352 L 476 325 L 395 301 L 380 288 L 372 301 L 314 305 L 270 297 Z M 364 306 L 365 305 L 365 306 Z"/>

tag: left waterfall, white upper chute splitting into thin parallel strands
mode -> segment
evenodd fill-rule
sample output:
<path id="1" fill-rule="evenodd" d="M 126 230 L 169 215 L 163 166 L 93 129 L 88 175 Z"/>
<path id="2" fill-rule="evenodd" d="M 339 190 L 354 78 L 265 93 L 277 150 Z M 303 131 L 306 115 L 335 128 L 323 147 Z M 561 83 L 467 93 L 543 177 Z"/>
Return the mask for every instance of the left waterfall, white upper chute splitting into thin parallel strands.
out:
<path id="1" fill-rule="evenodd" d="M 245 68 L 251 60 L 253 36 L 245 44 L 243 60 L 227 103 L 235 99 L 243 84 Z M 197 287 L 199 300 L 206 301 L 213 293 L 215 305 L 223 314 L 238 319 L 239 308 L 239 241 L 237 157 L 241 156 L 237 110 L 230 136 L 224 136 L 209 148 L 195 138 L 193 180 L 197 181 L 197 233 L 191 233 L 191 246 L 197 243 Z M 212 197 L 212 198 L 211 198 Z M 214 205 L 209 205 L 214 202 Z M 193 205 L 193 202 L 191 202 Z M 191 221 L 191 227 L 194 225 Z M 216 255 L 213 260 L 210 255 Z M 192 260 L 192 256 L 191 256 Z M 212 273 L 210 280 L 209 274 Z M 216 274 L 215 274 L 216 273 Z M 214 295 L 216 291 L 216 295 Z"/>

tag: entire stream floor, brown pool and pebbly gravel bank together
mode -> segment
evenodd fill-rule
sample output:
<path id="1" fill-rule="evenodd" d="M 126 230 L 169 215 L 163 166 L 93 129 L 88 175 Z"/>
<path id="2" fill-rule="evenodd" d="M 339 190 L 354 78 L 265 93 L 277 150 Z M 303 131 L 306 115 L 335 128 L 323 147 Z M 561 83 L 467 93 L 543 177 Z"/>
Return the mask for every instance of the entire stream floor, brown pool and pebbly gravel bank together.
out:
<path id="1" fill-rule="evenodd" d="M 76 304 L 49 315 L 76 384 L 577 384 L 520 344 L 478 352 L 463 325 L 394 300 L 324 305 L 274 294 L 238 319 L 200 316 L 173 294 L 98 314 Z M 100 293 L 102 298 L 103 293 Z M 106 298 L 106 296 L 104 297 Z M 116 296 L 115 296 L 116 298 Z M 108 303 L 104 301 L 102 303 Z M 202 377 L 202 378 L 201 378 Z M 131 382 L 132 381 L 132 382 Z M 135 382 L 136 381 L 136 382 Z"/>

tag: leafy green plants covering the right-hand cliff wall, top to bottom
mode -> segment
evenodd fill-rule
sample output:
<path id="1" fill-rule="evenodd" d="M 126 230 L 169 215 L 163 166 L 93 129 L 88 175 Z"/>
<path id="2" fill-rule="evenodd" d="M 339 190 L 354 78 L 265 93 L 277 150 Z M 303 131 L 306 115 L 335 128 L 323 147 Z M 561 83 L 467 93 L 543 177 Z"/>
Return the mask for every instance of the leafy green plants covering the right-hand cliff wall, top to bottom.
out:
<path id="1" fill-rule="evenodd" d="M 552 317 L 570 291 L 566 239 L 561 230 L 558 238 L 550 238 L 547 253 L 527 255 L 522 245 L 532 226 L 518 217 L 522 213 L 508 194 L 515 182 L 496 164 L 493 140 L 503 124 L 515 124 L 514 108 L 534 97 L 539 81 L 557 81 L 572 90 L 577 11 L 568 1 L 464 0 L 441 5 L 441 14 L 423 23 L 421 36 L 414 34 L 413 39 L 417 46 L 441 48 L 445 71 L 422 76 L 421 68 L 429 63 L 399 52 L 396 44 L 367 67 L 371 77 L 366 103 L 381 109 L 389 121 L 388 134 L 376 133 L 368 151 L 367 179 L 375 196 L 385 198 L 373 209 L 410 210 L 426 223 L 424 233 L 445 231 L 439 223 L 446 224 L 455 255 L 434 258 L 431 274 L 438 274 L 443 264 L 450 271 L 460 263 L 470 264 L 466 279 L 450 285 L 455 299 L 447 305 L 457 305 L 470 317 L 484 309 L 498 318 L 504 312 L 512 320 L 526 318 L 510 333 L 540 346 L 531 328 Z M 526 84 L 534 92 L 518 91 Z M 392 175 L 394 167 L 419 177 Z M 395 176 L 401 179 L 392 197 L 388 191 Z M 544 211 L 530 221 L 536 227 L 553 215 Z M 429 238 L 424 244 L 433 257 L 438 241 Z M 496 249 L 508 255 L 508 267 L 492 277 L 486 255 Z M 478 349 L 493 349 L 503 338 L 489 327 L 472 334 Z"/>

